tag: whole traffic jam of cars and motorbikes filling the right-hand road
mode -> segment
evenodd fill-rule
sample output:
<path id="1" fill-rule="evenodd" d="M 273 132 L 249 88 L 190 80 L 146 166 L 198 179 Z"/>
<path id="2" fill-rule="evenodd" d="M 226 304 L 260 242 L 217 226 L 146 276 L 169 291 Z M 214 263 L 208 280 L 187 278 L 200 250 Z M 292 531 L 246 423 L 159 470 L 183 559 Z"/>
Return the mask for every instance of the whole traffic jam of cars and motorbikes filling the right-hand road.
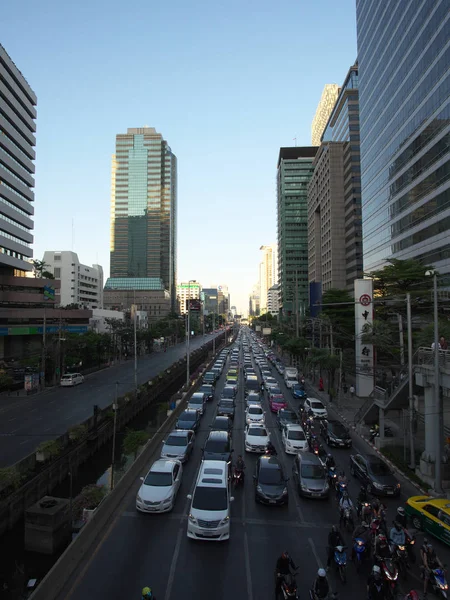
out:
<path id="1" fill-rule="evenodd" d="M 406 502 L 417 490 L 286 370 L 241 328 L 74 598 L 132 597 L 136 586 L 166 600 L 446 597 L 448 551 L 422 531 L 419 500 Z"/>

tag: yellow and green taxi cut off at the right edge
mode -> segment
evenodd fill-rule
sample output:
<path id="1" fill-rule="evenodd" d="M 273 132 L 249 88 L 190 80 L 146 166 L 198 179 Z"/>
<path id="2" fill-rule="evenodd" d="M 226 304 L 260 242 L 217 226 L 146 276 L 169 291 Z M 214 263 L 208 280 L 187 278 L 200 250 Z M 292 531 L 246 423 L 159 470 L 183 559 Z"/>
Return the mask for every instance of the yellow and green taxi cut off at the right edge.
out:
<path id="1" fill-rule="evenodd" d="M 450 500 L 431 496 L 411 496 L 406 514 L 416 529 L 434 535 L 450 545 Z"/>

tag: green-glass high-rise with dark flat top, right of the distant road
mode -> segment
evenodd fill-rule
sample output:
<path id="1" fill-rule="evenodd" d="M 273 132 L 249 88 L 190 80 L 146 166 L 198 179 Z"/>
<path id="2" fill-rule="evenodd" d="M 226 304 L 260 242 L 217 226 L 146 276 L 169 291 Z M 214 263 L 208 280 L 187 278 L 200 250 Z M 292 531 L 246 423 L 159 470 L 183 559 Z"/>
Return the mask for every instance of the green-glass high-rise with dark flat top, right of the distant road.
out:
<path id="1" fill-rule="evenodd" d="M 308 303 L 308 184 L 315 147 L 280 148 L 277 173 L 280 310 L 288 317 Z"/>

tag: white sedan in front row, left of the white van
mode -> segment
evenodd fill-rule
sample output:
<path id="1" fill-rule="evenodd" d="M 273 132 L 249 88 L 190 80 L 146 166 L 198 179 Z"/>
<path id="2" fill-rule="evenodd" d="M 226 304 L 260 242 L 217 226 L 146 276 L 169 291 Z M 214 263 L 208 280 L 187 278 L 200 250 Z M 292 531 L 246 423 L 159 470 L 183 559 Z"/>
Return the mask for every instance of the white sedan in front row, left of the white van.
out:
<path id="1" fill-rule="evenodd" d="M 150 471 L 141 477 L 136 509 L 146 513 L 163 513 L 173 509 L 180 489 L 183 466 L 179 460 L 155 460 Z"/>

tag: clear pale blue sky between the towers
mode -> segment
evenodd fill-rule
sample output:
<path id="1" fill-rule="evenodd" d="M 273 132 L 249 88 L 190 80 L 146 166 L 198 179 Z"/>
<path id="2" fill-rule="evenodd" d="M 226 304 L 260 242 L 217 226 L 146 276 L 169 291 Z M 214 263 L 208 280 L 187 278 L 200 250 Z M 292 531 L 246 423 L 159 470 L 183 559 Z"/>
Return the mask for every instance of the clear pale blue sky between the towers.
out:
<path id="1" fill-rule="evenodd" d="M 355 0 L 2 0 L 0 43 L 38 97 L 34 257 L 109 275 L 115 135 L 155 127 L 178 158 L 178 281 L 246 311 L 279 148 L 311 145 L 354 63 Z"/>

